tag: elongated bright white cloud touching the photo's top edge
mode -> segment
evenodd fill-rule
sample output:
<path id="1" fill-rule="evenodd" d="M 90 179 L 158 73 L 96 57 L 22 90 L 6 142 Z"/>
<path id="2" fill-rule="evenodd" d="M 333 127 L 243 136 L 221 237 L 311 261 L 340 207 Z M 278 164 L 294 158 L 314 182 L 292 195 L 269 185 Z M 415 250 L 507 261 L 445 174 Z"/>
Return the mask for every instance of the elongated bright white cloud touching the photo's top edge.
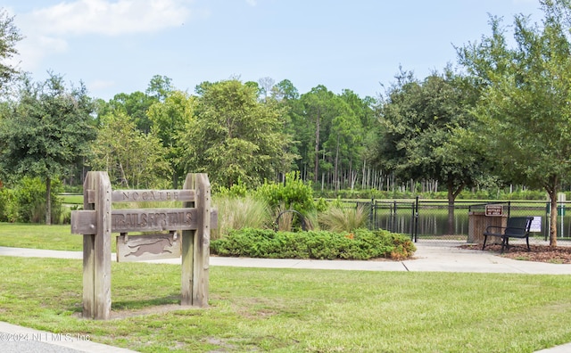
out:
<path id="1" fill-rule="evenodd" d="M 79 0 L 29 13 L 29 23 L 52 35 L 148 33 L 179 26 L 190 15 L 177 0 Z"/>

